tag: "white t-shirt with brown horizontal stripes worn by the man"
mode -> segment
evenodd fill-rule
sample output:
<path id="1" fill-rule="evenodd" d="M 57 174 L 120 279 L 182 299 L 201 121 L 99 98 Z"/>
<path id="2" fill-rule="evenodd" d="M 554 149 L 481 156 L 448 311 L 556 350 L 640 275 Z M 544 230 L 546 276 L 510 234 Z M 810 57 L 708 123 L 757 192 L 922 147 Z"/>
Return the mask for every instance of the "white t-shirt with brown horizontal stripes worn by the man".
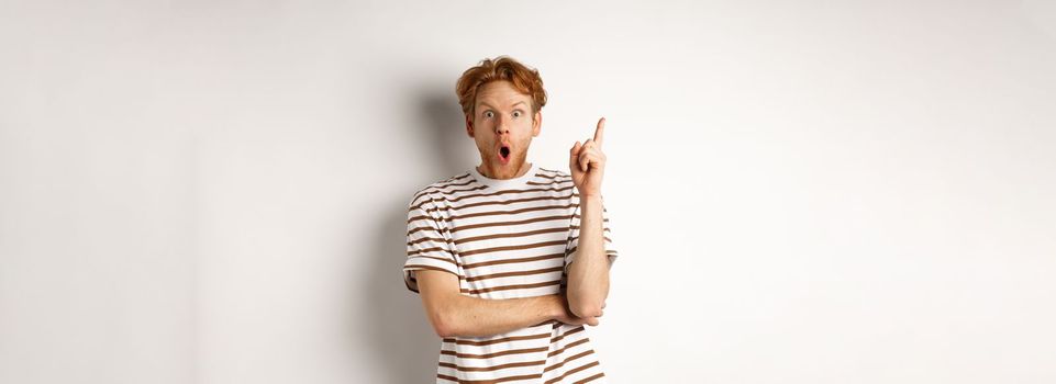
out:
<path id="1" fill-rule="evenodd" d="M 602 208 L 605 253 L 612 248 Z M 535 165 L 521 177 L 487 178 L 476 168 L 425 187 L 411 200 L 403 280 L 414 271 L 458 276 L 462 294 L 518 298 L 556 294 L 579 242 L 579 193 L 568 173 Z M 587 329 L 557 320 L 490 337 L 441 343 L 437 383 L 602 383 L 604 373 Z"/>

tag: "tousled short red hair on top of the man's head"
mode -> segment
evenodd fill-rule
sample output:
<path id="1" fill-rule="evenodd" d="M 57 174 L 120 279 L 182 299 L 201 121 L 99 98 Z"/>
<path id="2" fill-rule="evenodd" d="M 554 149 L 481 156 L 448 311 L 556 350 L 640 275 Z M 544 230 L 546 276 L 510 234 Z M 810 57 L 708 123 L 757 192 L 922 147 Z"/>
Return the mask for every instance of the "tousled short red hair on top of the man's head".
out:
<path id="1" fill-rule="evenodd" d="M 509 81 L 521 93 L 532 98 L 532 113 L 538 112 L 546 105 L 546 91 L 543 90 L 543 78 L 536 69 L 529 68 L 508 56 L 494 59 L 486 58 L 476 67 L 466 69 L 455 83 L 455 93 L 462 112 L 468 117 L 474 115 L 477 104 L 477 90 L 492 81 Z"/>

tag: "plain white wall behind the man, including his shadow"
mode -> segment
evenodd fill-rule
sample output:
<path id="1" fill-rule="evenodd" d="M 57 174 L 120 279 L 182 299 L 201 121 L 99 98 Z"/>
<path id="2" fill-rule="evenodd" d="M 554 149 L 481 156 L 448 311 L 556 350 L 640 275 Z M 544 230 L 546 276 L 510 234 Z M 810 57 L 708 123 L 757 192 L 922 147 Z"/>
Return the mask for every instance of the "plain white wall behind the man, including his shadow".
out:
<path id="1" fill-rule="evenodd" d="M 613 383 L 1056 382 L 1051 1 L 0 1 L 0 382 L 424 383 L 454 82 L 608 117 Z"/>

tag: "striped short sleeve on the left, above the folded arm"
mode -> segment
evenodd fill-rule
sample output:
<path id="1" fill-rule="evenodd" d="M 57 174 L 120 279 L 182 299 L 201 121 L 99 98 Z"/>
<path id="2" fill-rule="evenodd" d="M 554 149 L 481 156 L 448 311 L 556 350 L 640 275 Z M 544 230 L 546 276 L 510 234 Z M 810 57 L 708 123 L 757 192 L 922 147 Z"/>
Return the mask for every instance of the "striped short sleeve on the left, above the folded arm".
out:
<path id="1" fill-rule="evenodd" d="M 444 271 L 460 276 L 452 241 L 440 223 L 436 207 L 429 195 L 411 201 L 407 211 L 407 261 L 403 262 L 403 282 L 413 292 L 419 292 L 414 271 Z"/>

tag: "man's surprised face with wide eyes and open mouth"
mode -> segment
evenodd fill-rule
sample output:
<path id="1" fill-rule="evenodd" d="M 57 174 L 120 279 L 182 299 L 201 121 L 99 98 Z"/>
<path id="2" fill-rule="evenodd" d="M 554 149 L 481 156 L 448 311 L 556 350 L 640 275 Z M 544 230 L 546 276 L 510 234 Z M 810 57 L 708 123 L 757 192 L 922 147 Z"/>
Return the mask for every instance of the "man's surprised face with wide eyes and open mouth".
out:
<path id="1" fill-rule="evenodd" d="M 532 98 L 509 81 L 492 81 L 477 90 L 466 131 L 480 151 L 480 170 L 492 179 L 511 179 L 527 168 L 529 146 L 538 136 L 543 114 L 532 112 Z"/>

